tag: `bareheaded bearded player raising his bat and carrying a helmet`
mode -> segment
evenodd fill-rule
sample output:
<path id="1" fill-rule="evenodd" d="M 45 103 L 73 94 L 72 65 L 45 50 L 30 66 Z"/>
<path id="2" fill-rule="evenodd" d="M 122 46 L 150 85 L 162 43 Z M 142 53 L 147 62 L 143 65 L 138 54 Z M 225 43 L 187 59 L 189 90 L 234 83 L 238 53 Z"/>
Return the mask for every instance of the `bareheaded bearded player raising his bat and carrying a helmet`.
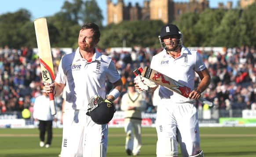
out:
<path id="1" fill-rule="evenodd" d="M 82 25 L 76 52 L 62 57 L 54 84 L 44 83 L 47 93 L 55 96 L 66 84 L 61 157 L 106 157 L 112 101 L 123 84 L 111 57 L 95 48 L 99 38 L 97 24 Z M 113 89 L 106 96 L 107 78 Z"/>

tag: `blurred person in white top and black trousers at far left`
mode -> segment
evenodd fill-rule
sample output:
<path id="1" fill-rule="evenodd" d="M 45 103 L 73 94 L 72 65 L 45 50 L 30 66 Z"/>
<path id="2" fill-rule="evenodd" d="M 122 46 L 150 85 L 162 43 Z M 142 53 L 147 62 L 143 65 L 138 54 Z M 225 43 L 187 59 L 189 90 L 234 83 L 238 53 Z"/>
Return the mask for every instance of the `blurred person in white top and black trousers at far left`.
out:
<path id="1" fill-rule="evenodd" d="M 40 147 L 44 147 L 45 144 L 45 133 L 47 132 L 47 140 L 45 147 L 51 146 L 52 140 L 52 121 L 54 116 L 51 115 L 50 99 L 44 90 L 41 91 L 42 95 L 35 99 L 33 117 L 35 122 L 39 121 L 40 130 Z"/>

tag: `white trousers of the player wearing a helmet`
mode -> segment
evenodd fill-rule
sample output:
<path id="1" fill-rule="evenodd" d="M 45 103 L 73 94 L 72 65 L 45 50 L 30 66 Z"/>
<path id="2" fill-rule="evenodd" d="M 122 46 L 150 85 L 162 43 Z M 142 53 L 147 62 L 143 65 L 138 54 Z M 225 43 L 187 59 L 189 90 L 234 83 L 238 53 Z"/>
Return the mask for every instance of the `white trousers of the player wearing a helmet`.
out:
<path id="1" fill-rule="evenodd" d="M 199 152 L 198 116 L 193 104 L 161 102 L 157 105 L 156 129 L 157 157 L 178 156 L 178 141 L 183 157 Z"/>

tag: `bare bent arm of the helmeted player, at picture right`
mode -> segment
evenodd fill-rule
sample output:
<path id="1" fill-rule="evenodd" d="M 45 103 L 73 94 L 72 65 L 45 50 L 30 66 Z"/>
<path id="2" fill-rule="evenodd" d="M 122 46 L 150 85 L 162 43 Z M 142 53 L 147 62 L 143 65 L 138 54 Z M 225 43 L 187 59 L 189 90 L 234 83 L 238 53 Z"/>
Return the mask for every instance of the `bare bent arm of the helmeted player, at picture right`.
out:
<path id="1" fill-rule="evenodd" d="M 198 76 L 200 77 L 201 81 L 197 88 L 194 89 L 189 95 L 192 99 L 198 99 L 201 97 L 201 93 L 205 91 L 205 89 L 208 87 L 208 85 L 211 83 L 211 76 L 208 72 L 208 69 L 205 68 L 201 71 L 196 71 Z"/>

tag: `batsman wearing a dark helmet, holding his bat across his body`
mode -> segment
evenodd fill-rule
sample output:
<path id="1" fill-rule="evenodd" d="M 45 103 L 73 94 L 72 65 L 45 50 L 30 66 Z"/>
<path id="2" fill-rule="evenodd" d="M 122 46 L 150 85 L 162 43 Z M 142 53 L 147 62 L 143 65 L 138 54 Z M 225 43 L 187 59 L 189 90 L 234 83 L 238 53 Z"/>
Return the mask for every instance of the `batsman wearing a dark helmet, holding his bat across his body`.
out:
<path id="1" fill-rule="evenodd" d="M 203 157 L 193 100 L 201 97 L 211 77 L 200 54 L 183 46 L 182 34 L 176 25 L 163 26 L 159 40 L 163 50 L 153 56 L 150 68 L 190 87 L 192 92 L 188 99 L 160 85 L 156 119 L 157 157 L 177 157 L 178 141 L 183 157 Z M 198 87 L 194 87 L 195 72 L 201 79 Z M 136 82 L 136 88 L 142 90 L 138 84 Z M 156 87 L 150 89 L 154 91 Z"/>

